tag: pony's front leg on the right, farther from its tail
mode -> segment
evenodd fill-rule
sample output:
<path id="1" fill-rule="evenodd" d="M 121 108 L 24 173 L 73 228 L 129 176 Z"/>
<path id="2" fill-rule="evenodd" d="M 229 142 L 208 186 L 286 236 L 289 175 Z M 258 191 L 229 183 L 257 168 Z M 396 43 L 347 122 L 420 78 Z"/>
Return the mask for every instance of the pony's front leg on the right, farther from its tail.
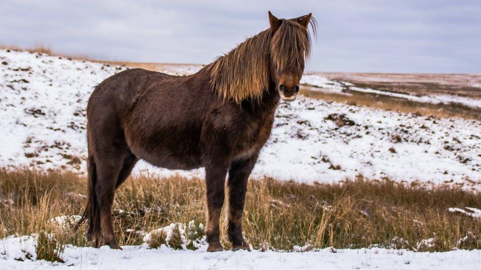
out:
<path id="1" fill-rule="evenodd" d="M 244 210 L 247 180 L 257 160 L 257 153 L 247 159 L 236 160 L 231 163 L 227 189 L 229 191 L 229 223 L 227 233 L 232 248 L 249 249 L 242 237 L 242 212 Z"/>

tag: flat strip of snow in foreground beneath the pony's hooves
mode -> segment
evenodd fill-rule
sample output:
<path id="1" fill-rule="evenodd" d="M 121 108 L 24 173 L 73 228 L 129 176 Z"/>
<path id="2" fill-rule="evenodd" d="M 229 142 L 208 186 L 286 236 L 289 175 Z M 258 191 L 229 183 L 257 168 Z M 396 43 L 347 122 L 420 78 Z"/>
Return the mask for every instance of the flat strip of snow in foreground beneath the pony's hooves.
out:
<path id="1" fill-rule="evenodd" d="M 35 238 L 0 240 L 1 269 L 481 269 L 480 250 L 412 252 L 393 249 L 333 249 L 308 252 L 149 249 L 146 244 L 113 250 L 67 246 L 65 263 L 36 260 Z M 29 259 L 30 258 L 30 259 Z"/>

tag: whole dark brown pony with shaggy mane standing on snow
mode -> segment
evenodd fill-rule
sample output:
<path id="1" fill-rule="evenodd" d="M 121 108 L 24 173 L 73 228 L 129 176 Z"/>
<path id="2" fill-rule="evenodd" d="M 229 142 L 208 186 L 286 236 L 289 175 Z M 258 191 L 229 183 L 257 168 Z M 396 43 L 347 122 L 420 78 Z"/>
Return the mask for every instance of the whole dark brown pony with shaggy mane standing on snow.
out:
<path id="1" fill-rule="evenodd" d="M 180 77 L 129 69 L 105 79 L 87 105 L 89 199 L 92 245 L 119 248 L 112 227 L 115 189 L 143 159 L 167 169 L 205 167 L 208 251 L 222 250 L 219 215 L 229 194 L 228 238 L 242 237 L 247 179 L 271 134 L 279 99 L 293 101 L 310 54 L 311 14 L 277 19 L 196 74 Z"/>

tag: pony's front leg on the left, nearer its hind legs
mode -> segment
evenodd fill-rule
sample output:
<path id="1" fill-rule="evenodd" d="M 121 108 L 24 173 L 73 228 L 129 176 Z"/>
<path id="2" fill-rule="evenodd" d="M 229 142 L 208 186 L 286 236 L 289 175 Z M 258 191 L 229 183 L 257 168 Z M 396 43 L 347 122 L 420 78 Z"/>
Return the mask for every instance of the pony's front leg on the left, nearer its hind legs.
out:
<path id="1" fill-rule="evenodd" d="M 224 204 L 224 186 L 227 165 L 222 162 L 212 162 L 206 166 L 206 196 L 207 196 L 207 230 L 206 238 L 209 244 L 207 251 L 220 251 L 224 248 L 219 240 L 219 219 Z"/>

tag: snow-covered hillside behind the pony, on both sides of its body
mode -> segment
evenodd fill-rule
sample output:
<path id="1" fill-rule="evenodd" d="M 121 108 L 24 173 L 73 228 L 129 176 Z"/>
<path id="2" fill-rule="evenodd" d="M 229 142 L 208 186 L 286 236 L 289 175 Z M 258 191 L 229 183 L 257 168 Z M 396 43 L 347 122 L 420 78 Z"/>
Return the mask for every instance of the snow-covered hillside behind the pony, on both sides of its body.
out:
<path id="1" fill-rule="evenodd" d="M 194 72 L 173 66 L 172 74 Z M 85 172 L 85 108 L 95 85 L 125 67 L 0 50 L 0 166 Z M 316 81 L 317 80 L 317 81 Z M 342 84 L 306 75 L 303 83 Z M 384 177 L 481 186 L 481 122 L 435 119 L 299 97 L 281 103 L 254 175 L 303 182 Z M 153 168 L 135 172 L 203 174 Z"/>

